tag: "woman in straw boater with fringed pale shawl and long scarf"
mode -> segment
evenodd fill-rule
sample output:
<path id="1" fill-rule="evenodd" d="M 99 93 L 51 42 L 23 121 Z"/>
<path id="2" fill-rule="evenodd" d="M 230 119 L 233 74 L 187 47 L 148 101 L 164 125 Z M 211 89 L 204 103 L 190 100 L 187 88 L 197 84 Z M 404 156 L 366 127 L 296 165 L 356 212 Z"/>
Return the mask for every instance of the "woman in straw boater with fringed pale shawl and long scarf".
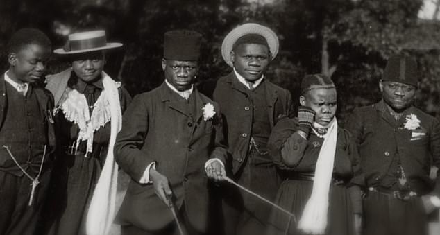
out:
<path id="1" fill-rule="evenodd" d="M 118 166 L 113 155 L 122 113 L 131 97 L 103 71 L 105 31 L 69 35 L 54 52 L 71 67 L 46 76 L 55 100 L 56 161 L 42 234 L 106 234 L 115 215 Z"/>

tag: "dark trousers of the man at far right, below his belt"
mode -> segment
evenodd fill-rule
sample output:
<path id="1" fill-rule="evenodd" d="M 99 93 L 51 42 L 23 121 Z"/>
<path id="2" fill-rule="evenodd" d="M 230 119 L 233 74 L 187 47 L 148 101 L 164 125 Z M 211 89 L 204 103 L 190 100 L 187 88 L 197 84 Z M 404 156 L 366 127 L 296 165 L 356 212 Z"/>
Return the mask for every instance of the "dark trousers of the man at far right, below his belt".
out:
<path id="1" fill-rule="evenodd" d="M 407 201 L 369 191 L 364 198 L 364 235 L 425 235 L 428 216 L 418 197 Z"/>

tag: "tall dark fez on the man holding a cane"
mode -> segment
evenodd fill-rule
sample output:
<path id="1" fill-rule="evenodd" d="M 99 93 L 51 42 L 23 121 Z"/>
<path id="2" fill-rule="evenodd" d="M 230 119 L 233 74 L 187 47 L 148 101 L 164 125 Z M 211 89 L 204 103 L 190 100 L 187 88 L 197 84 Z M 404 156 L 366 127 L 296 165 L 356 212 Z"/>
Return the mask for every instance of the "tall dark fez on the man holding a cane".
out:
<path id="1" fill-rule="evenodd" d="M 193 61 L 200 56 L 202 35 L 196 31 L 176 30 L 164 34 L 164 58 Z"/>

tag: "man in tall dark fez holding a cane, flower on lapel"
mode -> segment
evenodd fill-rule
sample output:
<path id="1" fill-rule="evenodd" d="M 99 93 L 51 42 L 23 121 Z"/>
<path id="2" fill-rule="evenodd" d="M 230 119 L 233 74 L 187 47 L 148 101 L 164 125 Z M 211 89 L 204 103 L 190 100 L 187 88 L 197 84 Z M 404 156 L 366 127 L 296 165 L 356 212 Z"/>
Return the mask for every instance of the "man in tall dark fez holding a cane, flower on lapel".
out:
<path id="1" fill-rule="evenodd" d="M 131 177 L 117 221 L 122 234 L 203 234 L 207 178 L 225 175 L 219 105 L 194 87 L 201 34 L 164 34 L 164 82 L 133 99 L 115 156 Z M 173 213 L 176 212 L 175 214 Z"/>

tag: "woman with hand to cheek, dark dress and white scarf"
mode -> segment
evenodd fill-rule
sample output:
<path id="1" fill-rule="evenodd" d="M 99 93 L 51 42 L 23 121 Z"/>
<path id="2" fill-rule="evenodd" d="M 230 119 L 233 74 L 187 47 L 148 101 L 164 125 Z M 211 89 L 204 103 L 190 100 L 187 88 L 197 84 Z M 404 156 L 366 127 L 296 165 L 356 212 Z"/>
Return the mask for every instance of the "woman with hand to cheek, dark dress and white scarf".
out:
<path id="1" fill-rule="evenodd" d="M 268 234 L 355 234 L 364 177 L 354 139 L 337 125 L 335 85 L 307 75 L 299 103 L 298 117 L 280 119 L 269 138 L 273 162 L 287 173 L 275 202 L 296 218 L 273 209 Z"/>

